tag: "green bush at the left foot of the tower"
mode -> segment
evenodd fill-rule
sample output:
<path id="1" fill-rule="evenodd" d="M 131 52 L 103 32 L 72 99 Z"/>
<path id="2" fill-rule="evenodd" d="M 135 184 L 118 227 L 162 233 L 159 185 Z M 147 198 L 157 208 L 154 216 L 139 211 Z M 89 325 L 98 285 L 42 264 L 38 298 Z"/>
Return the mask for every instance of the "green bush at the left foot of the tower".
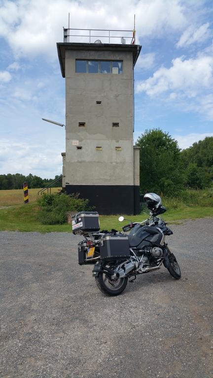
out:
<path id="1" fill-rule="evenodd" d="M 74 194 L 43 194 L 38 204 L 38 220 L 43 224 L 63 224 L 67 221 L 68 212 L 91 210 L 88 199 L 78 198 Z"/>

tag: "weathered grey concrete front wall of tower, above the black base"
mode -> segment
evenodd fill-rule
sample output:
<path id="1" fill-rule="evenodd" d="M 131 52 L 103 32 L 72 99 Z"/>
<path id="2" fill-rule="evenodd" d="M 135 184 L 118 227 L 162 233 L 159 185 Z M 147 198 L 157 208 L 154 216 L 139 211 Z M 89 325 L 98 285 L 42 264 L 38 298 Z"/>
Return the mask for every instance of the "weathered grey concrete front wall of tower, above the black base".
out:
<path id="1" fill-rule="evenodd" d="M 123 73 L 76 73 L 76 59 L 122 60 Z M 67 50 L 65 66 L 66 182 L 134 185 L 132 53 Z M 86 126 L 79 127 L 78 122 Z M 112 122 L 119 122 L 119 127 L 112 127 Z"/>

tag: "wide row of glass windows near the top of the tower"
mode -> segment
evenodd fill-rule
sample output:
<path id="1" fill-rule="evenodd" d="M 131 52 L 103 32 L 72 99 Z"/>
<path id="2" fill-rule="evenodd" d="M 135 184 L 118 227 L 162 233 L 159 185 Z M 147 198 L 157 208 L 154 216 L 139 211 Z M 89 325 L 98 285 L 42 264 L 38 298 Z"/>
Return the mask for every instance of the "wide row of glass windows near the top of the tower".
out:
<path id="1" fill-rule="evenodd" d="M 75 61 L 76 73 L 103 73 L 121 74 L 123 73 L 122 61 Z"/>

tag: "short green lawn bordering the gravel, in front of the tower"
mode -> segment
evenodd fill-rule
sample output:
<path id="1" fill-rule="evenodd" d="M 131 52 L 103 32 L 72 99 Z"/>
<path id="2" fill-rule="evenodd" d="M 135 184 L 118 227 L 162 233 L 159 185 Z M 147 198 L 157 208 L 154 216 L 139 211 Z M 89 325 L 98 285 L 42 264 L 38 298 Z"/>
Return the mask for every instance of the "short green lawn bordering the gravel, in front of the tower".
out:
<path id="1" fill-rule="evenodd" d="M 37 189 L 33 189 L 37 190 Z M 9 191 L 9 190 L 8 190 Z M 0 230 L 9 231 L 37 231 L 37 232 L 71 232 L 70 224 L 45 225 L 36 220 L 38 206 L 36 203 L 0 209 Z M 121 214 L 119 214 L 121 215 Z M 186 206 L 182 205 L 178 209 L 169 210 L 163 214 L 162 218 L 171 223 L 185 219 L 195 219 L 213 217 L 213 207 Z M 133 221 L 142 221 L 147 218 L 147 214 L 137 216 L 124 216 Z M 122 226 L 128 221 L 119 222 L 118 215 L 100 216 L 101 229 L 115 228 L 122 230 Z"/>

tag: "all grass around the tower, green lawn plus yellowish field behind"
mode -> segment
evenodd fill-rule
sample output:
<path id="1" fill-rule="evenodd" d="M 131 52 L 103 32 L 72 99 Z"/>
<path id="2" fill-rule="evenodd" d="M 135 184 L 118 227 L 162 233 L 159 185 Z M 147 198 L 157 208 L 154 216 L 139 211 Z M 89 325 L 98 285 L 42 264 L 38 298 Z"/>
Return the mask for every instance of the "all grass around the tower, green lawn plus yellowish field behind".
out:
<path id="1" fill-rule="evenodd" d="M 9 190 L 0 190 L 0 206 L 18 205 L 0 209 L 0 230 L 71 232 L 70 224 L 46 225 L 37 220 L 39 207 L 36 203 L 36 198 L 39 189 L 30 190 L 30 203 L 28 205 L 19 205 L 23 200 L 22 190 L 11 190 L 9 194 Z M 54 188 L 54 191 L 57 192 L 58 188 Z M 163 204 L 166 206 L 167 212 L 163 214 L 162 218 L 170 223 L 177 223 L 186 219 L 213 217 L 213 190 L 185 191 L 180 198 L 163 198 Z M 118 216 L 101 215 L 101 229 L 115 228 L 121 230 L 121 227 L 128 221 L 119 222 Z M 124 217 L 133 221 L 142 221 L 148 217 L 148 212 L 144 207 L 140 215 L 124 215 Z"/>

